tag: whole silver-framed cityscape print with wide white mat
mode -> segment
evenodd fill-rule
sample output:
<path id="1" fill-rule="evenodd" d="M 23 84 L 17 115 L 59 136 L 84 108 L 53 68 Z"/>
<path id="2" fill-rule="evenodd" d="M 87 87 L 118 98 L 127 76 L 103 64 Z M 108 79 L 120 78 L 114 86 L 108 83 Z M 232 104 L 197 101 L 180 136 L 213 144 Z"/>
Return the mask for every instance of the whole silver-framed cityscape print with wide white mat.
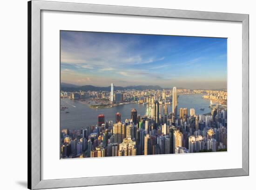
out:
<path id="1" fill-rule="evenodd" d="M 32 0 L 28 75 L 29 189 L 249 175 L 247 14 Z"/>

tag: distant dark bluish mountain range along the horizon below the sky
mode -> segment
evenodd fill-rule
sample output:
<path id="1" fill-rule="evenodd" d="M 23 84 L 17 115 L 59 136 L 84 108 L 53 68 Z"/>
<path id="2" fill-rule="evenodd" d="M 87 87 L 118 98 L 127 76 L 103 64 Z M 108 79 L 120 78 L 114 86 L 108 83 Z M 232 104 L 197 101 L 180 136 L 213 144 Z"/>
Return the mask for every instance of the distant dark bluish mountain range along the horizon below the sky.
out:
<path id="1" fill-rule="evenodd" d="M 114 90 L 163 90 L 163 89 L 170 89 L 170 88 L 162 88 L 159 85 L 139 85 L 139 86 L 114 86 Z M 78 85 L 72 85 L 67 83 L 61 83 L 61 90 L 67 91 L 67 92 L 76 92 L 76 91 L 110 91 L 110 86 L 107 87 L 99 87 L 99 86 L 93 86 L 93 85 L 84 85 L 84 86 L 78 86 Z"/>

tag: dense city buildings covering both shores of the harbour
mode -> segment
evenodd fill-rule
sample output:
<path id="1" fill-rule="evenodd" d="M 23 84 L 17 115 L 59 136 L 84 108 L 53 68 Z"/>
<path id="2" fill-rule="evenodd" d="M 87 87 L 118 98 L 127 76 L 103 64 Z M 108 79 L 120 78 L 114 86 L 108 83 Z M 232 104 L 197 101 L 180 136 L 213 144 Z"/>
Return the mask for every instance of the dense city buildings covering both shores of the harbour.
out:
<path id="1" fill-rule="evenodd" d="M 74 107 L 74 109 L 68 109 L 66 114 L 71 111 L 76 116 L 80 114 L 84 117 L 84 114 L 73 105 L 75 102 L 77 106 L 81 104 L 100 109 L 97 120 L 94 120 L 93 124 L 86 124 L 81 127 L 76 125 L 74 129 L 61 129 L 61 158 L 227 151 L 227 92 L 182 90 L 180 94 L 185 93 L 189 96 L 201 94 L 200 101 L 202 99 L 210 100 L 209 107 L 207 105 L 210 112 L 197 114 L 198 110 L 194 108 L 190 108 L 188 112 L 188 103 L 184 107 L 178 106 L 178 104 L 182 104 L 182 101 L 177 101 L 176 87 L 172 91 L 163 90 L 161 93 L 154 92 L 151 94 L 145 93 L 148 91 L 133 90 L 116 92 L 112 99 L 113 84 L 111 86 L 112 93 L 103 93 L 103 97 L 101 92 L 61 92 L 61 111 L 68 109 L 66 106 Z M 206 92 L 208 94 L 202 96 Z M 110 104 L 104 103 L 106 99 Z M 218 104 L 213 104 L 212 100 Z M 100 102 L 91 105 L 90 101 Z M 171 101 L 172 110 L 168 111 L 168 105 L 171 105 Z M 64 107 L 63 104 L 65 104 Z M 103 107 L 113 109 L 116 106 L 129 104 L 133 108 L 120 108 L 121 112 L 115 112 L 115 119 L 105 117 L 101 111 Z M 137 106 L 138 104 L 146 105 L 144 107 L 147 110 L 145 115 L 139 114 L 135 109 L 135 107 L 141 109 L 141 106 Z M 163 107 L 161 108 L 161 106 Z M 86 108 L 83 107 L 82 110 L 84 109 Z M 201 111 L 204 109 L 205 107 L 200 108 Z M 123 116 L 125 112 L 130 113 L 130 115 Z M 90 120 L 92 119 L 90 117 Z M 73 121 L 75 122 L 75 120 Z"/>

